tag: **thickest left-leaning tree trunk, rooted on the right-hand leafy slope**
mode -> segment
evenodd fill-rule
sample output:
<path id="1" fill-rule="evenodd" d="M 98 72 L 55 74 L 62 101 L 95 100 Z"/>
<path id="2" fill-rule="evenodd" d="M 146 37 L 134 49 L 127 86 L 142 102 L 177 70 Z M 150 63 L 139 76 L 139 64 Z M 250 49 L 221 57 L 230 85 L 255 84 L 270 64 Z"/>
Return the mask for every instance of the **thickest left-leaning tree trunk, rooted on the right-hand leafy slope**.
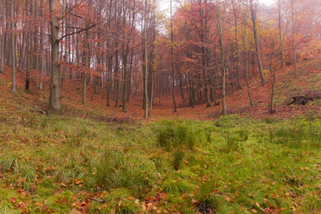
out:
<path id="1" fill-rule="evenodd" d="M 258 1 L 258 0 L 256 0 L 256 1 Z M 252 23 L 253 23 L 253 34 L 254 34 L 254 40 L 255 40 L 257 62 L 259 65 L 259 70 L 260 70 L 260 75 L 261 75 L 261 84 L 264 85 L 265 84 L 265 77 L 264 77 L 264 72 L 263 72 L 259 41 L 258 41 L 257 30 L 256 30 L 256 11 L 257 11 L 257 7 L 258 7 L 258 2 L 256 2 L 255 5 L 253 5 L 253 0 L 249 0 L 249 2 L 250 2 L 250 9 L 251 9 L 251 18 L 252 18 Z"/>

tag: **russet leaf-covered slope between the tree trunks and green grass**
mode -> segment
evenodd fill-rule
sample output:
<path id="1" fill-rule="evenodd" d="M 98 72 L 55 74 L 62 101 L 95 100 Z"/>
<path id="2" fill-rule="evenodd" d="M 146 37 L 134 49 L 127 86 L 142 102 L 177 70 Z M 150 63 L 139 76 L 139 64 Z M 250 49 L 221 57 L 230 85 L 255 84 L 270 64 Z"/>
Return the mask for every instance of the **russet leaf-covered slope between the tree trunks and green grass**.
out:
<path id="1" fill-rule="evenodd" d="M 24 90 L 25 73 L 17 73 L 17 93 L 14 95 L 10 92 L 11 87 L 11 68 L 5 66 L 5 74 L 0 74 L 0 90 L 3 96 L 0 98 L 2 103 L 11 104 L 8 108 L 18 107 L 18 103 L 25 103 L 30 106 L 39 106 L 41 110 L 48 110 L 49 100 L 49 82 L 50 77 L 45 77 L 44 89 L 40 90 L 35 84 L 32 84 L 30 91 Z M 316 99 L 308 105 L 287 105 L 289 100 L 294 95 L 307 94 L 320 98 L 321 96 L 321 59 L 307 59 L 298 65 L 299 77 L 294 78 L 293 67 L 287 67 L 284 70 L 277 72 L 275 75 L 274 84 L 274 100 L 273 110 L 275 114 L 273 117 L 292 117 L 298 114 L 304 114 L 309 111 L 320 111 L 320 102 Z M 240 114 L 243 116 L 250 116 L 255 118 L 262 118 L 268 116 L 268 105 L 271 91 L 270 73 L 266 74 L 267 83 L 261 85 L 258 78 L 254 78 L 250 84 L 251 95 L 254 100 L 254 105 L 249 104 L 248 93 L 245 82 L 243 88 L 236 90 L 227 95 L 226 105 L 227 113 Z M 142 120 L 143 110 L 141 109 L 142 95 L 136 97 L 131 96 L 127 105 L 127 113 L 122 113 L 121 108 L 115 108 L 115 101 L 111 99 L 111 107 L 105 105 L 106 92 L 98 87 L 98 94 L 94 94 L 93 101 L 91 101 L 92 87 L 89 84 L 87 90 L 87 104 L 81 104 L 82 99 L 82 83 L 80 81 L 64 80 L 61 91 L 61 110 L 62 112 L 77 112 L 81 111 L 84 115 L 86 112 L 96 112 L 108 117 L 130 117 L 137 120 Z M 219 94 L 218 94 L 219 97 Z M 11 100 L 11 101 L 9 101 Z M 154 105 L 152 116 L 149 121 L 159 120 L 161 118 L 188 118 L 196 120 L 216 120 L 222 113 L 222 106 L 212 106 L 205 108 L 205 100 L 198 100 L 196 108 L 189 106 L 182 106 L 181 100 L 177 97 L 179 105 L 178 113 L 173 114 L 172 99 L 168 97 L 161 97 L 161 106 L 158 105 L 159 97 L 154 98 Z M 220 99 L 218 98 L 218 101 Z M 15 103 L 16 102 L 16 103 Z M 202 104 L 203 103 L 203 104 Z M 2 106 L 2 108 L 5 108 Z"/>

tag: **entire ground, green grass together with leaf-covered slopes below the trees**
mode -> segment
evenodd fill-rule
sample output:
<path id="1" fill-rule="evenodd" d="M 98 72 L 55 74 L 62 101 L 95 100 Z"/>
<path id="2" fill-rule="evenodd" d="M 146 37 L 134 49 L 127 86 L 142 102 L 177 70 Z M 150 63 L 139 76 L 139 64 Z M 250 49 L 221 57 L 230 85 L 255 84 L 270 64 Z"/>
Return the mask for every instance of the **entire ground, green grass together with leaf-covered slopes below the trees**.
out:
<path id="1" fill-rule="evenodd" d="M 81 104 L 81 83 L 64 82 L 61 111 L 48 110 L 44 90 L 24 90 L 10 67 L 0 74 L 0 213 L 321 213 L 321 60 L 251 82 L 221 105 L 180 107 L 161 97 L 143 119 L 142 99 L 127 113 L 107 107 L 98 88 Z M 267 76 L 270 74 L 267 74 Z M 68 87 L 67 87 L 68 86 Z M 155 103 L 157 103 L 155 98 Z M 180 101 L 177 101 L 180 103 Z M 182 103 L 182 102 L 181 102 Z M 114 101 L 111 101 L 114 106 Z"/>

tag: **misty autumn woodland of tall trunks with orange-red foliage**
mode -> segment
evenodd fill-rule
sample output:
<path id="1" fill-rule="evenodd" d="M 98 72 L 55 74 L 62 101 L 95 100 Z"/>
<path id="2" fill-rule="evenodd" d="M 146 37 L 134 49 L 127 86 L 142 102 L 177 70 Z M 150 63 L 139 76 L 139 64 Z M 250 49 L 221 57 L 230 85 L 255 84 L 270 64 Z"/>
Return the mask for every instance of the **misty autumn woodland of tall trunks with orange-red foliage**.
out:
<path id="1" fill-rule="evenodd" d="M 0 72 L 4 63 L 11 66 L 13 92 L 16 67 L 26 70 L 27 91 L 32 85 L 42 90 L 49 81 L 51 110 L 59 110 L 59 96 L 82 82 L 77 93 L 83 105 L 89 96 L 121 105 L 126 113 L 135 102 L 145 118 L 158 114 L 152 103 L 172 106 L 173 112 L 177 106 L 196 107 L 197 113 L 204 100 L 226 115 L 238 105 L 228 94 L 244 88 L 249 105 L 263 102 L 274 114 L 280 78 L 296 84 L 308 75 L 298 64 L 320 52 L 319 1 L 277 0 L 271 6 L 253 0 L 185 1 L 171 6 L 171 19 L 160 3 L 3 0 Z M 99 90 L 104 98 L 97 98 Z M 262 92 L 267 97 L 255 97 Z M 131 100 L 142 95 L 139 102 Z"/>

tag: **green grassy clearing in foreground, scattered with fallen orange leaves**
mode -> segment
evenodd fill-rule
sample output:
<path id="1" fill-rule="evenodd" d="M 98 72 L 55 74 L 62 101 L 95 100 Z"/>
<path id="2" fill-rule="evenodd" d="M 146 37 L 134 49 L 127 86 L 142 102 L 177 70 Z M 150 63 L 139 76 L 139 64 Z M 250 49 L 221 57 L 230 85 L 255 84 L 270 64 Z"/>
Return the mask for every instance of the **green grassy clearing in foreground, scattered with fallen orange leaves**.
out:
<path id="1" fill-rule="evenodd" d="M 319 114 L 133 125 L 77 110 L 2 111 L 0 213 L 316 213 L 321 206 Z"/>

